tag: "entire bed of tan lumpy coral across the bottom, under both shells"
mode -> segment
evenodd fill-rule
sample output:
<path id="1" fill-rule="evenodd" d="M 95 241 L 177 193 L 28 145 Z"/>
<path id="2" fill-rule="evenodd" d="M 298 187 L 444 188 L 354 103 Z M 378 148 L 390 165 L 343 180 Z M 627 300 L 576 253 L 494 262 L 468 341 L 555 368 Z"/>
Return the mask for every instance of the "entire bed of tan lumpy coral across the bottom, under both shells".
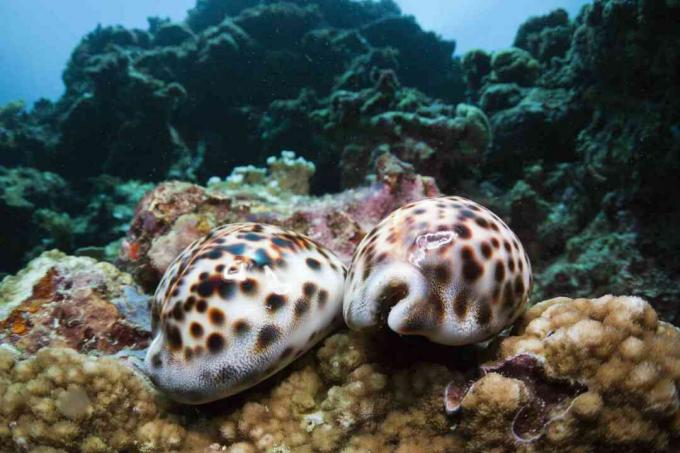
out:
<path id="1" fill-rule="evenodd" d="M 482 354 L 342 331 L 265 383 L 191 411 L 117 360 L 59 348 L 20 358 L 0 348 L 0 446 L 674 451 L 679 340 L 642 299 L 557 298 Z M 458 396 L 449 415 L 445 389 Z"/>

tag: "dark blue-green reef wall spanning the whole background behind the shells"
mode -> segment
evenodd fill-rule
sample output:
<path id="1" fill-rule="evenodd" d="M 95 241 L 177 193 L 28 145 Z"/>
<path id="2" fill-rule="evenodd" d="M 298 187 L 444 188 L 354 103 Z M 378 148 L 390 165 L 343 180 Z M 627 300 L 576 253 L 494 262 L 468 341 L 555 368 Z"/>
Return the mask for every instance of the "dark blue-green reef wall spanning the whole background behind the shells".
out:
<path id="1" fill-rule="evenodd" d="M 0 272 L 54 247 L 114 259 L 153 187 L 129 178 L 233 171 L 209 191 L 231 197 L 246 182 L 270 205 L 295 195 L 283 206 L 371 184 L 391 153 L 501 214 L 536 264 L 537 298 L 616 290 L 677 319 L 677 4 L 595 0 L 573 19 L 530 18 L 509 49 L 459 59 L 389 0 L 223 3 L 147 30 L 98 28 L 74 50 L 62 99 L 2 108 L 0 209 L 17 220 Z M 254 170 L 281 150 L 313 174 Z M 28 204 L 7 195 L 27 189 Z M 228 219 L 178 226 L 198 234 Z"/>

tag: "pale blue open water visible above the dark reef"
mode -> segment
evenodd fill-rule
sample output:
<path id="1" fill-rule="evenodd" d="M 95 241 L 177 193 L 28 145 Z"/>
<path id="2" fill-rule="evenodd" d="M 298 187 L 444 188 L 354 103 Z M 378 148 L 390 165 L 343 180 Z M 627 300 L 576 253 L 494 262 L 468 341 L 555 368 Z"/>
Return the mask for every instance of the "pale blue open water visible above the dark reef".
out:
<path id="1" fill-rule="evenodd" d="M 397 0 L 426 30 L 456 40 L 456 54 L 510 46 L 533 15 L 564 8 L 571 17 L 587 0 Z M 3 0 L 0 2 L 0 104 L 58 98 L 73 48 L 98 24 L 146 29 L 148 17 L 181 21 L 194 0 Z"/>

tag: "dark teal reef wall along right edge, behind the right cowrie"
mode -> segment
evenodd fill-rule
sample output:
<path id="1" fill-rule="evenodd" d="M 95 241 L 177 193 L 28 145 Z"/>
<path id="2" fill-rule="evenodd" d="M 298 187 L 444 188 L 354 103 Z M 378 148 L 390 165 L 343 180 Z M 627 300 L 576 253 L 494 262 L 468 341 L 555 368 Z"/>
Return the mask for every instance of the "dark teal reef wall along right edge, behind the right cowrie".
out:
<path id="1" fill-rule="evenodd" d="M 529 19 L 513 49 L 462 59 L 493 133 L 469 195 L 522 238 L 537 298 L 639 294 L 678 320 L 678 8 L 595 0 L 574 21 Z"/>

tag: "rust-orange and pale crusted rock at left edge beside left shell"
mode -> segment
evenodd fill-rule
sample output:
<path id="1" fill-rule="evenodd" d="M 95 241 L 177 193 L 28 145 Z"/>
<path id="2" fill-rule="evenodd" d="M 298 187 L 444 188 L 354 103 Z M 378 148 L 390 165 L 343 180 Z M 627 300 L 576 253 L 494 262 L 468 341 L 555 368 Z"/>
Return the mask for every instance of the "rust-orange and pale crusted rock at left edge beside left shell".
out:
<path id="1" fill-rule="evenodd" d="M 92 258 L 48 251 L 0 283 L 0 342 L 21 351 L 144 348 L 149 325 L 132 277 Z"/>

